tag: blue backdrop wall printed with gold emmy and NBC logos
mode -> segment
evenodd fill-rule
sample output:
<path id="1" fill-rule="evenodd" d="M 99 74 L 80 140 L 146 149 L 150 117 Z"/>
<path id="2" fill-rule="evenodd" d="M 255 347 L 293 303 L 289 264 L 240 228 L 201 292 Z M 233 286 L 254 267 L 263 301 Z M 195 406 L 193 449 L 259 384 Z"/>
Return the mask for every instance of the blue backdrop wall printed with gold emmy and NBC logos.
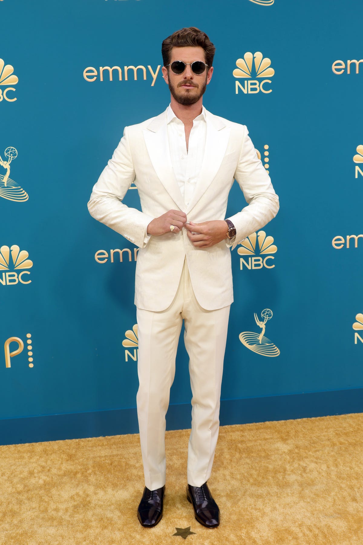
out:
<path id="1" fill-rule="evenodd" d="M 222 399 L 363 387 L 362 15 L 354 0 L 0 0 L 0 419 L 136 407 L 138 249 L 87 202 L 124 127 L 168 106 L 161 43 L 184 26 L 217 48 L 206 108 L 247 125 L 280 197 L 232 252 Z M 140 207 L 136 186 L 125 203 Z M 235 183 L 227 215 L 244 206 Z M 181 341 L 170 402 L 190 398 Z"/>

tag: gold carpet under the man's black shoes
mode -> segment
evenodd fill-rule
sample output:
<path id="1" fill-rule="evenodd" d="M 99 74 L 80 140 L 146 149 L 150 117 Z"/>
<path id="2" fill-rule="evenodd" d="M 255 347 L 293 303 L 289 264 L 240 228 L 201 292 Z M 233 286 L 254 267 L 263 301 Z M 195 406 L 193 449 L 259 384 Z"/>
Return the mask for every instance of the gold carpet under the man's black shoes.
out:
<path id="1" fill-rule="evenodd" d="M 0 543 L 362 545 L 363 414 L 220 428 L 208 485 L 219 528 L 186 500 L 189 431 L 167 432 L 164 516 L 144 529 L 138 435 L 0 446 Z"/>

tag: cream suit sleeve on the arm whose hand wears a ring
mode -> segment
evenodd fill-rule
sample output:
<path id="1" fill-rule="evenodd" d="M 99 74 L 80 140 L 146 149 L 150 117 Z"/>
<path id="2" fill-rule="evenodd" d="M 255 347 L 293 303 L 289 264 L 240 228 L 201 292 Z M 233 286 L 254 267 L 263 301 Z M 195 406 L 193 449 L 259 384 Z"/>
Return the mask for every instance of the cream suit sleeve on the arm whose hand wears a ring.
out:
<path id="1" fill-rule="evenodd" d="M 136 208 L 129 208 L 122 202 L 134 180 L 135 171 L 126 127 L 112 159 L 93 187 L 88 210 L 96 220 L 142 248 L 150 238 L 146 235 L 146 228 L 153 217 Z"/>

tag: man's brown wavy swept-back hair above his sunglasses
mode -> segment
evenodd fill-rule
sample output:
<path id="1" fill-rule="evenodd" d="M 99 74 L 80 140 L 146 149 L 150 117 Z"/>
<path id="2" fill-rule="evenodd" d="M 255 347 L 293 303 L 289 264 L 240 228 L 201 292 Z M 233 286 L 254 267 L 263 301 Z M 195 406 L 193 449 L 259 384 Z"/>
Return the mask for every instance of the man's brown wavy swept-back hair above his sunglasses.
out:
<path id="1" fill-rule="evenodd" d="M 170 51 L 173 47 L 187 46 L 202 47 L 204 49 L 205 62 L 208 65 L 208 68 L 212 66 L 216 47 L 214 47 L 205 32 L 202 32 L 199 28 L 195 27 L 181 28 L 179 31 L 173 32 L 173 34 L 163 40 L 161 54 L 163 56 L 164 66 L 167 66 L 167 64 L 170 63 Z"/>

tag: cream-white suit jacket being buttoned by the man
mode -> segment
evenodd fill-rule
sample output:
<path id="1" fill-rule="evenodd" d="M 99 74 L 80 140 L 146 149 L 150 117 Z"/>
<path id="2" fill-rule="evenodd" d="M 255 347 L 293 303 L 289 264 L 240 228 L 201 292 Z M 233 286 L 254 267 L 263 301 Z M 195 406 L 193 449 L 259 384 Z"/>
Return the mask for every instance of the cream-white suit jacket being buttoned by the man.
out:
<path id="1" fill-rule="evenodd" d="M 183 201 L 171 165 L 167 112 L 125 128 L 93 188 L 90 214 L 140 247 L 136 264 L 135 304 L 162 311 L 174 299 L 187 258 L 190 280 L 201 307 L 215 310 L 233 301 L 229 241 L 211 248 L 194 247 L 186 229 L 151 237 L 145 244 L 150 221 L 168 210 L 182 210 L 187 221 L 224 220 L 233 179 L 248 206 L 229 219 L 237 229 L 232 249 L 261 229 L 279 209 L 270 178 L 257 158 L 244 125 L 214 116 L 206 110 L 206 144 L 198 182 L 188 205 Z M 141 210 L 122 203 L 134 182 Z"/>

